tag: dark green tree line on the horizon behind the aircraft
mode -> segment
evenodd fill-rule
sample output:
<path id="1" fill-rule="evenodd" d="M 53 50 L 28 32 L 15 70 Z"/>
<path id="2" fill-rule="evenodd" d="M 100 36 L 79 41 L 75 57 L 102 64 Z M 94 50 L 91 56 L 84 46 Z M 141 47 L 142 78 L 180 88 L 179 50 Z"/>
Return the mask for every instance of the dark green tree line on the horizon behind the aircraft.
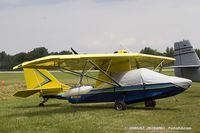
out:
<path id="1" fill-rule="evenodd" d="M 195 49 L 197 55 L 200 57 L 200 49 Z M 165 52 L 159 52 L 156 49 L 150 47 L 143 48 L 140 53 L 150 54 L 150 55 L 159 55 L 159 56 L 174 56 L 173 47 L 167 47 Z M 47 55 L 68 55 L 72 54 L 70 51 L 61 51 L 61 52 L 48 52 L 45 47 L 34 48 L 30 52 L 20 52 L 15 55 L 9 55 L 5 51 L 0 52 L 0 70 L 12 70 L 12 68 L 24 61 L 30 61 Z"/>

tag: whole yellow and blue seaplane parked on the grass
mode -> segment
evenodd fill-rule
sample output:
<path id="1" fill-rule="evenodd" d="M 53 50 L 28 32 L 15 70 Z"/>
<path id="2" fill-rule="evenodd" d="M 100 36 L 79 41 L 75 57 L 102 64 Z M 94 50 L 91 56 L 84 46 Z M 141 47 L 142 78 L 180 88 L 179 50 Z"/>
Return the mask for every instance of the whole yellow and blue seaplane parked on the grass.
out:
<path id="1" fill-rule="evenodd" d="M 73 50 L 73 49 L 72 49 Z M 120 50 L 112 54 L 50 55 L 27 61 L 13 69 L 23 68 L 27 89 L 14 96 L 28 97 L 39 93 L 44 106 L 50 98 L 70 103 L 114 102 L 116 110 L 125 110 L 128 104 L 144 102 L 155 107 L 156 99 L 174 96 L 185 91 L 191 80 L 167 76 L 154 71 L 174 58 Z M 153 68 L 153 70 L 147 69 Z M 59 82 L 49 71 L 57 69 L 80 77 L 77 85 Z M 95 70 L 97 76 L 89 72 Z M 83 84 L 83 78 L 95 80 Z"/>

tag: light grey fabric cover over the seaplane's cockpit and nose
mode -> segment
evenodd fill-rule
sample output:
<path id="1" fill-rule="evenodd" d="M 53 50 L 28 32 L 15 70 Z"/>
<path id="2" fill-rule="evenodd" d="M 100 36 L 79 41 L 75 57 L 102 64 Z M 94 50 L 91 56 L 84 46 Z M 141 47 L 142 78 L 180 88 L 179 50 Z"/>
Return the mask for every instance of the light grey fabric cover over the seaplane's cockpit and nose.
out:
<path id="1" fill-rule="evenodd" d="M 131 70 L 128 72 L 112 73 L 111 76 L 122 86 L 173 83 L 182 85 L 183 83 L 191 84 L 191 80 L 167 76 L 146 68 Z M 186 87 L 188 88 L 188 86 Z"/>

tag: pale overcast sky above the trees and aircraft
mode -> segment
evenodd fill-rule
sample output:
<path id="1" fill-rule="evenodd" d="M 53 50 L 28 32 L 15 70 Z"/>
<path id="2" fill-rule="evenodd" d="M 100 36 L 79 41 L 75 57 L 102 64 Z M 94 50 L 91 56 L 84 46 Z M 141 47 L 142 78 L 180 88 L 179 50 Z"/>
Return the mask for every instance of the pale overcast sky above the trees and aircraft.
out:
<path id="1" fill-rule="evenodd" d="M 0 0 L 0 51 L 200 48 L 200 0 Z"/>

